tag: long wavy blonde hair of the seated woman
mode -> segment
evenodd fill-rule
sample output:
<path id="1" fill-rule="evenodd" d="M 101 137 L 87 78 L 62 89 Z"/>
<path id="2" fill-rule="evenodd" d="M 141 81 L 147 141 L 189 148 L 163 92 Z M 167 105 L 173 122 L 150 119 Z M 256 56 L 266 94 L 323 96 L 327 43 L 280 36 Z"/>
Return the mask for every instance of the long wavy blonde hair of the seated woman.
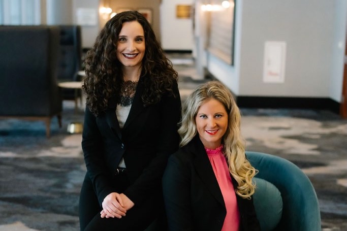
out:
<path id="1" fill-rule="evenodd" d="M 257 170 L 250 165 L 245 156 L 245 142 L 240 133 L 241 114 L 230 90 L 218 81 L 210 81 L 199 85 L 187 98 L 183 105 L 182 119 L 178 133 L 180 146 L 188 144 L 197 134 L 196 116 L 201 105 L 214 98 L 223 104 L 228 112 L 228 128 L 223 136 L 223 153 L 229 171 L 238 186 L 235 190 L 244 199 L 250 199 L 256 185 L 252 179 Z"/>

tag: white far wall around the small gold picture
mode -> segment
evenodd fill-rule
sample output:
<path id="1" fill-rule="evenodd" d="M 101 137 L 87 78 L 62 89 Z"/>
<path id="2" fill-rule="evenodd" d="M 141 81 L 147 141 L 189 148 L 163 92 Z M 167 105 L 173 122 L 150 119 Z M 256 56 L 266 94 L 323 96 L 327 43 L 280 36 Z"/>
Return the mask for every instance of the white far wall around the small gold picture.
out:
<path id="1" fill-rule="evenodd" d="M 164 50 L 193 50 L 192 19 L 177 19 L 177 5 L 194 5 L 194 0 L 162 0 L 161 41 Z"/>

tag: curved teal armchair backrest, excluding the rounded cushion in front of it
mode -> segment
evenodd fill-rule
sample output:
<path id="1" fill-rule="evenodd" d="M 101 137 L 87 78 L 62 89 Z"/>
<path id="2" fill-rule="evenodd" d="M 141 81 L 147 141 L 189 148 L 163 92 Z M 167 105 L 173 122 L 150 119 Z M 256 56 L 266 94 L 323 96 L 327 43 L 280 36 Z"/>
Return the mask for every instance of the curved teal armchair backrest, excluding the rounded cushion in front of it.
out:
<path id="1" fill-rule="evenodd" d="M 256 177 L 273 184 L 282 197 L 282 216 L 274 230 L 320 231 L 322 228 L 318 198 L 308 177 L 287 159 L 250 151 L 247 151 L 246 155 L 252 166 L 259 170 Z M 254 195 L 255 207 L 256 194 L 257 191 Z M 273 200 L 272 195 L 269 196 L 269 200 Z M 266 212 L 262 211 L 265 214 Z"/>

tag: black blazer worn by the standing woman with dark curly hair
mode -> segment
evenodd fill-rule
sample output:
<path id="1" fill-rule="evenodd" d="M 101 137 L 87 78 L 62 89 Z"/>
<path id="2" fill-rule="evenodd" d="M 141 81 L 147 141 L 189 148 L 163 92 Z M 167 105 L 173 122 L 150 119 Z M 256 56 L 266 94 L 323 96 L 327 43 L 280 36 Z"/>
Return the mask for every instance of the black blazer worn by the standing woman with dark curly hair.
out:
<path id="1" fill-rule="evenodd" d="M 129 186 L 123 193 L 136 205 L 141 204 L 153 190 L 162 192 L 162 175 L 170 154 L 178 149 L 177 123 L 181 117 L 181 101 L 177 83 L 176 94 L 164 94 L 159 103 L 144 106 L 144 90 L 140 78 L 133 105 L 122 129 L 116 117 L 116 98 L 109 108 L 94 116 L 85 110 L 82 149 L 87 174 L 100 205 L 114 191 L 112 178 L 124 157 Z"/>

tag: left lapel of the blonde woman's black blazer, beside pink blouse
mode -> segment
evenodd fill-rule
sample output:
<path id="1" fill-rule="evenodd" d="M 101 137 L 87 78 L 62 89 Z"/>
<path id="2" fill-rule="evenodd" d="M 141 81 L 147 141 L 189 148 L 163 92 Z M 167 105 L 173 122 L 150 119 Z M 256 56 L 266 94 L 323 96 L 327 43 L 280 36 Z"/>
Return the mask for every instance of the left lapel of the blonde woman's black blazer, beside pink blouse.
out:
<path id="1" fill-rule="evenodd" d="M 201 143 L 198 136 L 194 138 L 193 152 L 196 155 L 194 165 L 201 180 L 206 184 L 207 188 L 215 199 L 223 206 L 225 206 L 222 192 L 220 191 L 217 179 L 214 175 L 211 163 L 206 154 L 205 148 Z"/>

